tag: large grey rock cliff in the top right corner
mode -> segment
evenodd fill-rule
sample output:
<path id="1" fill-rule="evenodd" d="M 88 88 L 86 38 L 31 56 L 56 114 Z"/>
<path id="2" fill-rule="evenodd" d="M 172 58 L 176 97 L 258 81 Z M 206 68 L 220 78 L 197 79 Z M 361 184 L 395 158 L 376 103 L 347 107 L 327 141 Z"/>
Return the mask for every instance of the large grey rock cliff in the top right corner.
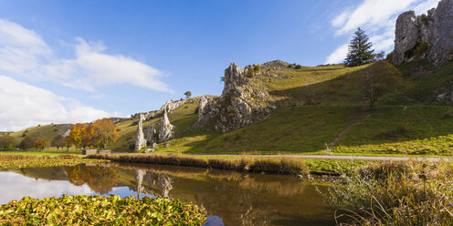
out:
<path id="1" fill-rule="evenodd" d="M 400 65 L 416 57 L 437 67 L 453 59 L 453 0 L 440 1 L 427 15 L 409 11 L 398 16 L 392 62 Z"/>

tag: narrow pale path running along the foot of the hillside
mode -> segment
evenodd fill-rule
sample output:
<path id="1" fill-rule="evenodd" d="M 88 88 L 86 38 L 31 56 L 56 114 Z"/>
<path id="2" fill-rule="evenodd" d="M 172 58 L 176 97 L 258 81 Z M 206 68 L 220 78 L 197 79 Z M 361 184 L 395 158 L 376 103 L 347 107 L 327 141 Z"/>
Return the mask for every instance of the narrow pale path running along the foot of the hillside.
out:
<path id="1" fill-rule="evenodd" d="M 406 157 L 406 156 L 342 156 L 342 155 L 202 155 L 213 157 L 290 157 L 302 159 L 339 159 L 339 160 L 374 160 L 374 161 L 451 161 L 451 157 Z"/>

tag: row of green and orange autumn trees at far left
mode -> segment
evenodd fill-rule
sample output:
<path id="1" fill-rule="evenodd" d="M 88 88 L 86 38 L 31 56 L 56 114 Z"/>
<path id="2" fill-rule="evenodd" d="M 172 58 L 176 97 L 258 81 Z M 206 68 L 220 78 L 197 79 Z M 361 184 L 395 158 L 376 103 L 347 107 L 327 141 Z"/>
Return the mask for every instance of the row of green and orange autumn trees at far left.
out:
<path id="1" fill-rule="evenodd" d="M 99 148 L 106 149 L 109 143 L 115 142 L 120 133 L 115 123 L 110 118 L 98 119 L 90 124 L 78 123 L 71 127 L 69 135 L 64 137 L 58 134 L 53 139 L 40 139 L 34 136 L 26 136 L 17 144 L 16 139 L 9 133 L 0 135 L 0 149 L 37 149 L 42 151 L 50 147 L 58 150 L 66 148 L 67 150 L 75 146 L 81 148 Z"/>

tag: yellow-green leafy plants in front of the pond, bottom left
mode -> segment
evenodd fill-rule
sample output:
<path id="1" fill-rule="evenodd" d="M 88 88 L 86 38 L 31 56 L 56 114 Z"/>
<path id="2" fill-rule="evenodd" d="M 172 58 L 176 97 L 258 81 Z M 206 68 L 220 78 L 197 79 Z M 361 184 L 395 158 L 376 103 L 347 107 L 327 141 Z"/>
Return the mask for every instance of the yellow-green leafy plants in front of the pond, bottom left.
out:
<path id="1" fill-rule="evenodd" d="M 24 197 L 0 207 L 1 225 L 202 225 L 205 220 L 205 211 L 194 204 L 151 197 Z"/>

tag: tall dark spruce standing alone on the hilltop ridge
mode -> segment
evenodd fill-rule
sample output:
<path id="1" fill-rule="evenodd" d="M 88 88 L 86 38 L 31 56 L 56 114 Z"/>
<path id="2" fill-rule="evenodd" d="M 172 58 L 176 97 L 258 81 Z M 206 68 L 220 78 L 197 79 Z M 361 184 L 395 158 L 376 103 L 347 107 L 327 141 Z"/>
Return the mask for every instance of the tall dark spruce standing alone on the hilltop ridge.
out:
<path id="1" fill-rule="evenodd" d="M 349 44 L 348 55 L 344 64 L 348 67 L 366 65 L 374 60 L 373 44 L 369 41 L 365 32 L 359 28 L 354 32 L 353 39 Z"/>

